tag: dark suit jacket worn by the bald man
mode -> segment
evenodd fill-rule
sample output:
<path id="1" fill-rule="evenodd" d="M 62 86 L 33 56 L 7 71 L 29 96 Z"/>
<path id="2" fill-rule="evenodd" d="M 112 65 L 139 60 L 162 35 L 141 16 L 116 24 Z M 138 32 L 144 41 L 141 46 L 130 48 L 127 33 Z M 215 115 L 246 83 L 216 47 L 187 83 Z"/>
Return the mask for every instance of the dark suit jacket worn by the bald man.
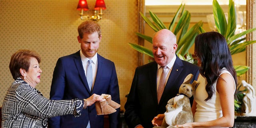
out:
<path id="1" fill-rule="evenodd" d="M 197 80 L 199 68 L 194 64 L 180 60 L 176 56 L 174 66 L 158 104 L 157 101 L 157 70 L 156 62 L 150 62 L 136 68 L 132 86 L 124 106 L 124 117 L 129 128 L 141 124 L 144 128 L 152 128 L 151 121 L 158 114 L 166 112 L 168 100 L 178 94 L 180 85 L 188 74 L 193 74 L 191 82 Z M 192 100 L 190 101 L 192 102 Z"/>

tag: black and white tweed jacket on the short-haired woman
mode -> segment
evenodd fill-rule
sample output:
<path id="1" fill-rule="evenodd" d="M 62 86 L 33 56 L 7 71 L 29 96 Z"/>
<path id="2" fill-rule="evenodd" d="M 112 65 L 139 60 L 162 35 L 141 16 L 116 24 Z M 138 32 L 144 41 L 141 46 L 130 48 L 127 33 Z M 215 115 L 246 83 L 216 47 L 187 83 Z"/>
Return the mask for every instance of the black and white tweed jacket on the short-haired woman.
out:
<path id="1" fill-rule="evenodd" d="M 47 118 L 74 114 L 80 116 L 84 102 L 49 100 L 21 78 L 8 88 L 2 104 L 2 128 L 46 128 Z"/>

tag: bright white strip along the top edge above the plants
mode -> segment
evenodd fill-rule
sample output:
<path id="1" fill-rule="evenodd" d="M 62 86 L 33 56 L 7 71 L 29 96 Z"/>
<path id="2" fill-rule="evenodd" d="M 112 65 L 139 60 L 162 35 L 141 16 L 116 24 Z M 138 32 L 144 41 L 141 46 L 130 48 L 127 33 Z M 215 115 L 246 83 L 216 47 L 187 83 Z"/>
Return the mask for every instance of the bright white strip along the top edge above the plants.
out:
<path id="1" fill-rule="evenodd" d="M 229 0 L 217 0 L 220 5 L 228 5 Z M 235 3 L 246 5 L 246 0 L 234 0 Z M 212 5 L 212 0 L 145 0 L 145 5 Z"/>

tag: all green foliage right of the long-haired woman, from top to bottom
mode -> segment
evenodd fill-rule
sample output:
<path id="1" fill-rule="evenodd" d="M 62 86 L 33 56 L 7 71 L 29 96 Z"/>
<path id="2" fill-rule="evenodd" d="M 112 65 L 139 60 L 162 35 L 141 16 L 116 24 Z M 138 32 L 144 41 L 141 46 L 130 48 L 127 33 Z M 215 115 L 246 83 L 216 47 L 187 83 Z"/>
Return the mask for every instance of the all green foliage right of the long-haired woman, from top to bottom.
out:
<path id="1" fill-rule="evenodd" d="M 235 34 L 236 9 L 235 9 L 233 0 L 229 0 L 228 22 L 217 0 L 213 0 L 212 5 L 213 5 L 213 14 L 214 14 L 216 29 L 220 34 L 222 34 L 226 38 L 228 47 L 232 55 L 240 52 L 244 52 L 246 50 L 246 46 L 256 43 L 256 40 L 246 41 L 246 38 L 245 37 L 243 38 L 244 35 L 255 31 L 256 28 L 252 28 L 244 32 L 241 32 L 239 34 Z M 241 76 L 242 74 L 246 73 L 249 70 L 248 66 L 234 66 L 234 68 L 236 70 L 237 76 Z M 237 99 L 235 99 L 235 102 L 234 102 L 235 112 L 241 112 L 241 107 L 243 104 L 242 98 L 244 94 L 242 94 L 243 91 L 240 91 L 239 88 L 238 88 Z"/>

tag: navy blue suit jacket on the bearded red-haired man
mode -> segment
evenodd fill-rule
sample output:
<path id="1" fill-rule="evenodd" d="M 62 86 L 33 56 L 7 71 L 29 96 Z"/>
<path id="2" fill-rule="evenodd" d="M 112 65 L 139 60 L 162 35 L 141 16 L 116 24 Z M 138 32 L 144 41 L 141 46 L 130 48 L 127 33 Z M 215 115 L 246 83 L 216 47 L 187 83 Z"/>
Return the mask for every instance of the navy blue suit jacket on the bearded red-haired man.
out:
<path id="1" fill-rule="evenodd" d="M 88 87 L 80 51 L 58 59 L 53 72 L 50 90 L 51 100 L 71 100 L 74 98 L 88 98 L 92 94 L 110 94 L 112 100 L 120 104 L 118 79 L 114 62 L 98 54 L 98 68 L 92 92 Z M 109 115 L 110 127 L 118 126 L 120 108 Z M 50 128 L 86 128 L 90 120 L 91 128 L 103 128 L 104 116 L 96 114 L 95 104 L 83 109 L 80 117 L 65 115 L 50 118 Z"/>

